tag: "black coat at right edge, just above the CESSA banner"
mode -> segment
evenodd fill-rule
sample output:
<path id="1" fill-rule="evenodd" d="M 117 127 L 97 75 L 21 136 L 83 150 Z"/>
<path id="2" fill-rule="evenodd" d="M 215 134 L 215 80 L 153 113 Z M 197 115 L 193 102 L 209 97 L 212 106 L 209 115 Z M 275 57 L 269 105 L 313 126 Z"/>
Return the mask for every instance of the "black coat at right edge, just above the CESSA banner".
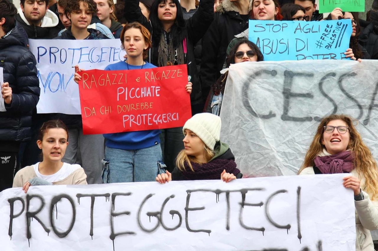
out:
<path id="1" fill-rule="evenodd" d="M 374 32 L 373 23 L 365 20 L 359 20 L 361 32 L 358 42 L 363 46 L 370 55 L 370 59 L 378 59 L 378 35 Z"/>

